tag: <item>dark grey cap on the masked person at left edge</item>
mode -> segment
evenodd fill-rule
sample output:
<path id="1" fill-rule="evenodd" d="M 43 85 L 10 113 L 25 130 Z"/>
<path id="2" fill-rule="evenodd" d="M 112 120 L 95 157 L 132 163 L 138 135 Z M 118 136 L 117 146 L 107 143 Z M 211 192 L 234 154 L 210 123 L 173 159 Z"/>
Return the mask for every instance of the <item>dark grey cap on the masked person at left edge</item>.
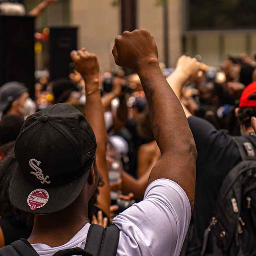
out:
<path id="1" fill-rule="evenodd" d="M 8 82 L 0 88 L 0 111 L 4 112 L 23 93 L 28 92 L 20 82 Z"/>

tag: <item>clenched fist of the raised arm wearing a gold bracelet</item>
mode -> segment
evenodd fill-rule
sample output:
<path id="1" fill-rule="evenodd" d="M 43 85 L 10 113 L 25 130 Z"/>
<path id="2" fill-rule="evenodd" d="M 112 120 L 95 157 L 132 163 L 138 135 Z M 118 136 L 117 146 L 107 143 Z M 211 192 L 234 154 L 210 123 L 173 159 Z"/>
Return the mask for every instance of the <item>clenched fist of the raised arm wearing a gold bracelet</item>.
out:
<path id="1" fill-rule="evenodd" d="M 85 80 L 98 77 L 99 64 L 95 54 L 89 53 L 85 48 L 82 48 L 78 51 L 72 51 L 70 56 L 76 65 L 76 70 Z"/>

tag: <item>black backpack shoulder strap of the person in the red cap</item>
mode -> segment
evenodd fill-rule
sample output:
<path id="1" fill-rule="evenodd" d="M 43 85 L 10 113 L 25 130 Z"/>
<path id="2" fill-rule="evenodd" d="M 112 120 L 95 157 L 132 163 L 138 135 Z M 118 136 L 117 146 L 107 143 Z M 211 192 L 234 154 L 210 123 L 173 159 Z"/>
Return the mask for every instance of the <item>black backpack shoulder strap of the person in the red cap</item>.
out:
<path id="1" fill-rule="evenodd" d="M 256 155 L 254 148 L 250 142 L 244 136 L 233 137 L 236 145 L 238 146 L 242 160 L 255 160 Z"/>

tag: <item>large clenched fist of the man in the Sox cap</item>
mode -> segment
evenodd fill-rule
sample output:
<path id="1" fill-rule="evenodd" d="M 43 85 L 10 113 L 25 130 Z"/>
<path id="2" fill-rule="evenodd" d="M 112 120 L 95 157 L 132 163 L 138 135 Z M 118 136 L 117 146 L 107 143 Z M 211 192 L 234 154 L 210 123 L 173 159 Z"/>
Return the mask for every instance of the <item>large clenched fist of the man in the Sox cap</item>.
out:
<path id="1" fill-rule="evenodd" d="M 158 49 L 153 36 L 146 30 L 124 31 L 117 36 L 112 50 L 115 63 L 139 71 L 149 63 L 158 62 Z"/>

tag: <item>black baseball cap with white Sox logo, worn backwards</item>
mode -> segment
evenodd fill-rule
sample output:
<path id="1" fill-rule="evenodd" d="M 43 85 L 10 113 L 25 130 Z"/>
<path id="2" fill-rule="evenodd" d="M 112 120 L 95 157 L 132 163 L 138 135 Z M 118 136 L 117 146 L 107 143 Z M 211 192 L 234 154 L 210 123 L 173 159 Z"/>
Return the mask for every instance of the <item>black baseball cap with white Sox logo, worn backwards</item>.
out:
<path id="1" fill-rule="evenodd" d="M 15 144 L 11 203 L 34 214 L 69 206 L 85 186 L 95 152 L 94 132 L 73 106 L 59 103 L 29 116 Z"/>

